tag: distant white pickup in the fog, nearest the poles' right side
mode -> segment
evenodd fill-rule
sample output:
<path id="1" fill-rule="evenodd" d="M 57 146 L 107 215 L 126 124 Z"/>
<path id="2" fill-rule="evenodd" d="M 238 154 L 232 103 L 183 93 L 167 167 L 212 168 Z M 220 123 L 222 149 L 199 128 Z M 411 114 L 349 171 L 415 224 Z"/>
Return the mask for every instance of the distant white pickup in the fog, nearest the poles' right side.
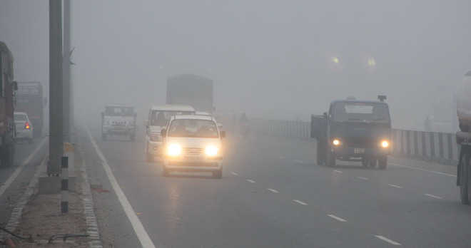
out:
<path id="1" fill-rule="evenodd" d="M 131 141 L 136 139 L 137 113 L 134 107 L 126 105 L 107 105 L 101 113 L 101 138 L 108 135 L 126 135 Z"/>

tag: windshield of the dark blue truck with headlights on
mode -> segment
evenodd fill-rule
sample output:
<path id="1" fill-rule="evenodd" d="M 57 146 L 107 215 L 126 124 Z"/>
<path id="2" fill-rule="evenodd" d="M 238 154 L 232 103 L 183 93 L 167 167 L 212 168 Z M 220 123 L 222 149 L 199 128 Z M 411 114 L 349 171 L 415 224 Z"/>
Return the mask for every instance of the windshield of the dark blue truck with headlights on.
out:
<path id="1" fill-rule="evenodd" d="M 389 108 L 384 103 L 335 103 L 333 120 L 337 122 L 389 123 Z"/>

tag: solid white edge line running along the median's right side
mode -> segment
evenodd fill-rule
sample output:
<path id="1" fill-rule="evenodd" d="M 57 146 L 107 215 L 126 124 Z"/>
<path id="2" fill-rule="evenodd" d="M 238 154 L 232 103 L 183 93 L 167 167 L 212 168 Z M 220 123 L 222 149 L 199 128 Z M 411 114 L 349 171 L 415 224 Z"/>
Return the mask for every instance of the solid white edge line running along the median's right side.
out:
<path id="1" fill-rule="evenodd" d="M 108 180 L 111 182 L 111 186 L 113 187 L 113 190 L 118 197 L 121 207 L 123 207 L 129 222 L 131 222 L 139 242 L 141 242 L 142 247 L 155 248 L 156 246 L 153 244 L 151 238 L 146 232 L 146 229 L 144 229 L 141 221 L 136 215 L 136 212 L 134 212 L 133 207 L 129 203 L 128 198 L 126 198 L 126 195 L 124 195 L 123 190 L 121 190 L 121 187 L 119 187 L 118 181 L 116 180 L 116 177 L 114 177 L 113 172 L 111 172 L 111 168 L 106 161 L 106 157 L 103 155 L 103 153 L 101 153 L 98 145 L 96 145 L 95 139 L 91 136 L 90 130 L 88 130 L 88 128 L 86 128 L 86 133 L 88 134 L 88 138 L 91 141 L 91 145 L 93 145 L 93 148 L 96 150 L 96 154 L 98 154 L 98 157 L 101 159 L 101 165 L 103 165 L 103 169 L 105 169 L 106 175 L 108 175 Z"/>

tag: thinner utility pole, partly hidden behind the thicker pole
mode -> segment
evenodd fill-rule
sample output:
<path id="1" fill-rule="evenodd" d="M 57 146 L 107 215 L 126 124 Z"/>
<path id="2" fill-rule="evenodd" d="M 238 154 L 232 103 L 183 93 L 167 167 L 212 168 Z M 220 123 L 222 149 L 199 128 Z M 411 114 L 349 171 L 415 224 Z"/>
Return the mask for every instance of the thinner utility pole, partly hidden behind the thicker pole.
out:
<path id="1" fill-rule="evenodd" d="M 64 142 L 71 142 L 71 1 L 64 0 Z"/>

